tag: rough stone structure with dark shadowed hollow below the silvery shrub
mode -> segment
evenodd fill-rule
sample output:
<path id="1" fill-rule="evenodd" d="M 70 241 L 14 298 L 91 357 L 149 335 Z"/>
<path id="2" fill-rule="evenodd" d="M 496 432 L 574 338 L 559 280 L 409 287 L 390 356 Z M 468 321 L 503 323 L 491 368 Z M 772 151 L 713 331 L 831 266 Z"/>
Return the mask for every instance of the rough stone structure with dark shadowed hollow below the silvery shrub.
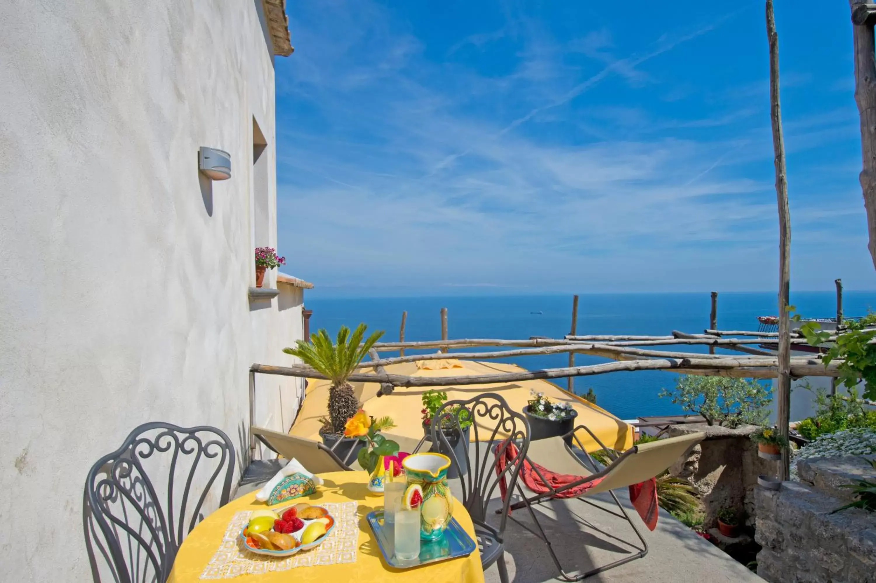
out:
<path id="1" fill-rule="evenodd" d="M 745 523 L 754 523 L 758 474 L 775 472 L 775 462 L 760 459 L 758 447 L 749 437 L 757 429 L 754 425 L 728 429 L 705 423 L 675 425 L 669 429 L 669 437 L 695 431 L 706 434 L 686 458 L 669 468 L 669 473 L 690 480 L 699 489 L 705 512 L 704 528 L 717 526 L 717 512 L 721 508 L 743 510 Z"/>

